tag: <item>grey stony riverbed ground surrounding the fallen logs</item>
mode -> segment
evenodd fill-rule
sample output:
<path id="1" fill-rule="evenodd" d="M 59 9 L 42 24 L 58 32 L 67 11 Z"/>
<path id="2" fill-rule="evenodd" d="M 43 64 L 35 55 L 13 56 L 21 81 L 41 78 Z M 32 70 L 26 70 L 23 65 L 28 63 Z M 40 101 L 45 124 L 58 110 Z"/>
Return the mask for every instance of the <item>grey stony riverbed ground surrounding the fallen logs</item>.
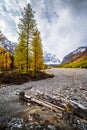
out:
<path id="1" fill-rule="evenodd" d="M 0 89 L 0 130 L 24 129 L 24 127 L 26 130 L 42 130 L 42 128 L 44 130 L 57 130 L 60 127 L 57 125 L 58 122 L 63 126 L 61 129 L 66 127 L 71 129 L 64 122 L 59 121 L 52 111 L 34 104 L 20 102 L 19 93 L 25 91 L 27 94 L 30 92 L 32 94 L 40 92 L 56 95 L 65 99 L 72 99 L 87 107 L 87 69 L 55 68 L 46 70 L 46 72 L 54 74 L 54 78 L 30 81 L 22 85 L 6 84 L 2 86 Z M 45 123 L 40 118 L 37 118 L 36 111 L 39 113 L 39 116 L 43 113 L 42 117 L 44 117 Z M 38 119 L 39 121 L 37 121 Z M 24 121 L 27 123 L 24 124 Z M 5 128 L 7 125 L 9 127 Z M 84 127 L 83 130 L 87 130 L 87 127 Z"/>

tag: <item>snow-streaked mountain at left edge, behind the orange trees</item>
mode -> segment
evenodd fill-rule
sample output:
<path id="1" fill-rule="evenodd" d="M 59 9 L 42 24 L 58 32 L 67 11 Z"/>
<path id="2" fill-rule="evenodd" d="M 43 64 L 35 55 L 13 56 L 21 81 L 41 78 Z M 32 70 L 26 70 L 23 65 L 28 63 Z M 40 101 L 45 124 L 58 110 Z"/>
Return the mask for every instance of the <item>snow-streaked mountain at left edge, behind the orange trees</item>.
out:
<path id="1" fill-rule="evenodd" d="M 5 36 L 3 40 L 0 42 L 0 46 L 4 47 L 7 51 L 13 53 L 15 50 L 17 43 L 9 41 Z"/>

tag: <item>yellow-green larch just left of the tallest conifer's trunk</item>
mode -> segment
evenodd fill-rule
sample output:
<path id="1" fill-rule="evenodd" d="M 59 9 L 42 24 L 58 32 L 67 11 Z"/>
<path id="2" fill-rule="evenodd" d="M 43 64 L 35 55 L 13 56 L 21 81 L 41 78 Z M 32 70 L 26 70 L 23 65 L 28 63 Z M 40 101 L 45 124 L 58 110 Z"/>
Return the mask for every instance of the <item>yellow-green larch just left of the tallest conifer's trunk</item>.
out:
<path id="1" fill-rule="evenodd" d="M 27 46 L 26 46 L 25 34 L 21 33 L 19 44 L 15 49 L 15 55 L 14 55 L 15 66 L 19 70 L 24 70 L 26 67 L 26 57 L 27 57 L 26 51 L 27 51 Z"/>

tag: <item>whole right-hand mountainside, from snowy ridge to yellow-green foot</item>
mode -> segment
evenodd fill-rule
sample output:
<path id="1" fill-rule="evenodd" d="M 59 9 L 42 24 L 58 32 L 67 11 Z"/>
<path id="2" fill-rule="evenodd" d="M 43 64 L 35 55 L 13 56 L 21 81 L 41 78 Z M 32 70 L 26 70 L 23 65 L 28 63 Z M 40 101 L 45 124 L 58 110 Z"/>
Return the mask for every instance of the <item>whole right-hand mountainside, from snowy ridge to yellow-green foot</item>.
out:
<path id="1" fill-rule="evenodd" d="M 61 67 L 87 68 L 87 47 L 79 47 L 63 58 Z"/>

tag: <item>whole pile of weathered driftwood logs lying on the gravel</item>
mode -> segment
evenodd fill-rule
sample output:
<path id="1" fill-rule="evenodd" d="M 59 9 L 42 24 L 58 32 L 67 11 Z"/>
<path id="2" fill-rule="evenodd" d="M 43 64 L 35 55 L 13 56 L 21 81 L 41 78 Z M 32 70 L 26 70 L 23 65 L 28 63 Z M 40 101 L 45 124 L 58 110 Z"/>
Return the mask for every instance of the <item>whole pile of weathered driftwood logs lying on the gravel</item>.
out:
<path id="1" fill-rule="evenodd" d="M 64 113 L 65 111 L 67 113 L 69 111 L 68 113 L 73 113 L 73 116 L 87 121 L 87 108 L 75 101 L 40 93 L 36 97 L 32 95 L 27 96 L 24 92 L 21 92 L 19 97 L 26 102 L 36 103 L 59 113 Z"/>

